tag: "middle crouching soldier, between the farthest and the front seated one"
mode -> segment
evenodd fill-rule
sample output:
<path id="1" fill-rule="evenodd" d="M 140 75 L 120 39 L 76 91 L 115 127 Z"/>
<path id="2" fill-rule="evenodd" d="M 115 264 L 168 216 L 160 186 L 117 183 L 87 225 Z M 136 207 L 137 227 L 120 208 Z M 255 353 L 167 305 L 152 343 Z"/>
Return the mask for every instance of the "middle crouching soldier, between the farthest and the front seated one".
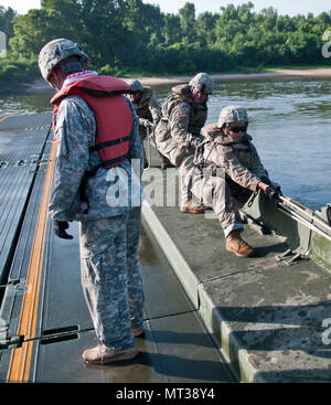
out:
<path id="1" fill-rule="evenodd" d="M 162 118 L 156 128 L 156 141 L 160 152 L 180 167 L 180 210 L 191 214 L 204 212 L 192 201 L 191 182 L 196 146 L 201 142 L 201 128 L 207 118 L 207 98 L 213 93 L 214 79 L 199 73 L 186 85 L 178 85 L 166 98 Z"/>

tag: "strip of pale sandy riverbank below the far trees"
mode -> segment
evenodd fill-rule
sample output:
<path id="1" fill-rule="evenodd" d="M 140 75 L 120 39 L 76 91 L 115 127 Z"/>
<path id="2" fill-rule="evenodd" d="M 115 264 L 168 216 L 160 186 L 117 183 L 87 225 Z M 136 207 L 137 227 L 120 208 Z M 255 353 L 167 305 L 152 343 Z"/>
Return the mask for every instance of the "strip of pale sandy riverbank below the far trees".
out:
<path id="1" fill-rule="evenodd" d="M 282 70 L 273 73 L 234 73 L 234 74 L 216 74 L 212 75 L 215 81 L 231 79 L 252 79 L 252 78 L 273 78 L 273 77 L 291 77 L 291 76 L 310 76 L 310 77 L 331 77 L 331 68 L 314 68 L 314 70 Z M 139 77 L 143 85 L 153 86 L 162 84 L 186 83 L 192 76 L 172 76 L 172 77 Z M 24 85 L 26 93 L 43 93 L 52 92 L 52 88 L 43 78 L 39 78 L 31 84 Z"/>

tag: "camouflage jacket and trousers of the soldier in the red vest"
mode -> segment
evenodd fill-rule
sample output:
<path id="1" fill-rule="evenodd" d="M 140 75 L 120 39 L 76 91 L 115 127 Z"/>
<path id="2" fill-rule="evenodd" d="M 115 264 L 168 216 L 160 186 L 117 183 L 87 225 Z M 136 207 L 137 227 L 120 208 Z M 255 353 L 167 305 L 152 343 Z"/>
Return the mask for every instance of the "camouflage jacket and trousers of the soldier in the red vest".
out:
<path id="1" fill-rule="evenodd" d="M 135 345 L 130 328 L 142 326 L 143 301 L 138 263 L 143 152 L 138 117 L 127 102 L 135 117 L 129 158 L 109 170 L 99 168 L 95 175 L 87 178 L 89 210 L 86 212 L 78 189 L 84 172 L 100 163 L 98 152 L 88 150 L 95 143 L 96 120 L 82 97 L 68 96 L 62 100 L 56 119 L 57 159 L 49 207 L 55 220 L 81 221 L 84 294 L 100 343 L 116 349 Z M 130 163 L 132 159 L 138 162 L 136 171 Z M 136 195 L 130 193 L 131 186 Z"/>

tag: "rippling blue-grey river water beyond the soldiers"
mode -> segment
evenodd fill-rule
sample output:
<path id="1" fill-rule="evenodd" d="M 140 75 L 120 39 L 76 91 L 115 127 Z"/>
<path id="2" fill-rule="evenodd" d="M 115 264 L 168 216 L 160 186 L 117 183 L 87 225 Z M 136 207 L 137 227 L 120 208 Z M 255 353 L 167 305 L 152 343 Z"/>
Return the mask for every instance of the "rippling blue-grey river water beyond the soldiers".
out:
<path id="1" fill-rule="evenodd" d="M 153 86 L 160 102 L 171 86 Z M 0 117 L 51 111 L 52 94 L 1 96 Z M 207 124 L 227 105 L 247 108 L 248 134 L 286 195 L 311 210 L 331 203 L 331 78 L 216 82 Z"/>

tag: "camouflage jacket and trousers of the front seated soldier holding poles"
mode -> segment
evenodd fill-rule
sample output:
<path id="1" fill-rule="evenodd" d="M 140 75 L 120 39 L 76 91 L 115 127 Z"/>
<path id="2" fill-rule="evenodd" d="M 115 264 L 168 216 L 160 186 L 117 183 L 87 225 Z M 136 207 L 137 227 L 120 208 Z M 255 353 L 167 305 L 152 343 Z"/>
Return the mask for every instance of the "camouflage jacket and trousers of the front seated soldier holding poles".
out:
<path id="1" fill-rule="evenodd" d="M 202 134 L 205 140 L 195 157 L 192 193 L 213 207 L 227 236 L 243 228 L 238 210 L 268 173 L 248 134 L 242 141 L 235 141 L 217 124 L 205 126 Z"/>

